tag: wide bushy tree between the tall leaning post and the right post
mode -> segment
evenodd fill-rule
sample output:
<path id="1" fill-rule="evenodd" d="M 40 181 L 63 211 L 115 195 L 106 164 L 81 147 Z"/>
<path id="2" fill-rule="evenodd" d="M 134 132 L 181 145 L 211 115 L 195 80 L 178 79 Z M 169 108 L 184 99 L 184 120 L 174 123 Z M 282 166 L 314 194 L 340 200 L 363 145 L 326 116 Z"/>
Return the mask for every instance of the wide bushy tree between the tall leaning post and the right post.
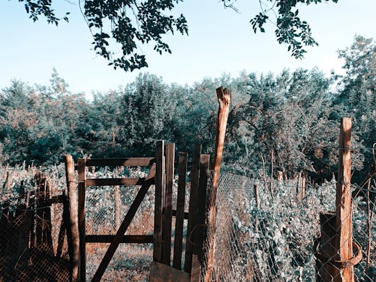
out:
<path id="1" fill-rule="evenodd" d="M 288 177 L 299 171 L 315 179 L 331 177 L 338 120 L 330 120 L 330 79 L 316 69 L 244 79 L 249 101 L 230 111 L 226 168 L 257 175 L 264 163 L 271 175 L 273 163 Z"/>

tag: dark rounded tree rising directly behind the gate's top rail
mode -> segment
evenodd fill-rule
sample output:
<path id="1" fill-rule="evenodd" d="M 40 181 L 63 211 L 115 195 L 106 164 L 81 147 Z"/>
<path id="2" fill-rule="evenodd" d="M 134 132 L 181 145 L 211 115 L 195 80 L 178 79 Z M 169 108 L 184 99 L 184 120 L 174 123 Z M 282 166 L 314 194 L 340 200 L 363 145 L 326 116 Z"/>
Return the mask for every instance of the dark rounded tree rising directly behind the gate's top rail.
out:
<path id="1" fill-rule="evenodd" d="M 127 85 L 120 100 L 119 136 L 126 155 L 153 154 L 156 140 L 171 140 L 175 100 L 162 78 L 148 73 Z"/>

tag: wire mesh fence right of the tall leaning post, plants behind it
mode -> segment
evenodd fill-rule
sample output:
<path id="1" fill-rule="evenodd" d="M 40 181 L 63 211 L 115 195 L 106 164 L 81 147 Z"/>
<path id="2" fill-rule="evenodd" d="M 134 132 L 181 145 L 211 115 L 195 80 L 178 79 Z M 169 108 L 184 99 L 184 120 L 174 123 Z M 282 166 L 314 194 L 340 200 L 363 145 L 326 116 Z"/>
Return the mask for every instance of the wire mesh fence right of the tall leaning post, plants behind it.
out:
<path id="1" fill-rule="evenodd" d="M 221 173 L 216 206 L 211 281 L 334 279 L 322 277 L 326 269 L 320 268 L 327 262 L 320 264 L 315 247 L 319 246 L 322 260 L 327 257 L 323 256 L 324 247 L 320 246 L 320 214 L 336 209 L 335 181 L 320 187 L 306 187 L 306 191 L 302 191 L 292 181 L 261 182 Z M 370 201 L 354 198 L 352 237 L 363 253 L 363 259 L 354 266 L 356 281 L 376 281 L 376 220 L 373 213 Z M 204 257 L 209 248 L 206 242 Z M 353 251 L 355 256 L 356 250 Z M 336 258 L 327 259 L 331 263 Z M 202 280 L 206 269 L 204 259 Z"/>

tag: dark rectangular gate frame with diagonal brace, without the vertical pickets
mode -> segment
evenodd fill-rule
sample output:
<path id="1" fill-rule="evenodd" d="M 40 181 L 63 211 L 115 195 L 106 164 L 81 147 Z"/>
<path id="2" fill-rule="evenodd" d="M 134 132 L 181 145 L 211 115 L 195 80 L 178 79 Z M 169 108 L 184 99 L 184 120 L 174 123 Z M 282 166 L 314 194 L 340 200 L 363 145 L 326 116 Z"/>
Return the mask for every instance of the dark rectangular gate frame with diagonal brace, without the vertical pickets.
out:
<path id="1" fill-rule="evenodd" d="M 104 255 L 92 281 L 100 281 L 104 270 L 109 265 L 113 253 L 115 253 L 120 243 L 152 243 L 152 235 L 125 235 L 128 226 L 136 214 L 143 198 L 150 185 L 155 183 L 156 171 L 161 171 L 162 163 L 156 163 L 156 159 L 162 157 L 134 157 L 127 159 L 79 159 L 78 160 L 78 217 L 79 217 L 79 251 L 80 251 L 80 281 L 86 281 L 86 243 L 111 243 Z M 150 171 L 146 178 L 86 178 L 86 167 L 88 166 L 150 166 Z M 89 235 L 86 234 L 85 203 L 86 188 L 91 186 L 115 186 L 115 185 L 141 185 L 136 198 L 128 210 L 123 222 L 120 224 L 116 235 Z"/>

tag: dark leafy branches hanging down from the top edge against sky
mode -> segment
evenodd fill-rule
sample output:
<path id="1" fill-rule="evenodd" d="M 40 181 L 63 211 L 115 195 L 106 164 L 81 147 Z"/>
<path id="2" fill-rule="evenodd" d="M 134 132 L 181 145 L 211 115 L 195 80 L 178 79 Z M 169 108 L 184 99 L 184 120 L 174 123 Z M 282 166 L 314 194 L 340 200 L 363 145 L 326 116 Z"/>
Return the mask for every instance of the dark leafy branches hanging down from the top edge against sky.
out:
<path id="1" fill-rule="evenodd" d="M 166 33 L 188 35 L 187 20 L 184 15 L 166 15 L 183 0 L 86 0 L 79 1 L 81 13 L 93 35 L 95 52 L 109 61 L 113 68 L 125 71 L 147 67 L 146 57 L 138 52 L 141 45 L 152 43 L 155 51 L 171 53 L 169 45 L 162 40 Z M 324 0 L 327 2 L 330 0 Z M 338 0 L 331 0 L 337 3 Z M 52 0 L 19 0 L 23 2 L 26 13 L 35 22 L 40 15 L 47 22 L 58 25 L 63 19 L 68 22 L 66 13 L 56 17 Z M 226 8 L 236 10 L 233 0 L 221 0 Z M 251 19 L 254 32 L 265 32 L 265 24 L 270 21 L 269 14 L 276 15 L 276 38 L 286 44 L 295 58 L 302 58 L 306 52 L 303 46 L 318 45 L 312 37 L 309 24 L 299 18 L 298 4 L 309 5 L 322 0 L 267 0 L 260 1 L 260 13 Z M 84 3 L 81 6 L 81 3 Z M 120 45 L 121 52 L 112 52 L 110 45 Z M 117 53 L 120 53 L 118 56 Z"/>

